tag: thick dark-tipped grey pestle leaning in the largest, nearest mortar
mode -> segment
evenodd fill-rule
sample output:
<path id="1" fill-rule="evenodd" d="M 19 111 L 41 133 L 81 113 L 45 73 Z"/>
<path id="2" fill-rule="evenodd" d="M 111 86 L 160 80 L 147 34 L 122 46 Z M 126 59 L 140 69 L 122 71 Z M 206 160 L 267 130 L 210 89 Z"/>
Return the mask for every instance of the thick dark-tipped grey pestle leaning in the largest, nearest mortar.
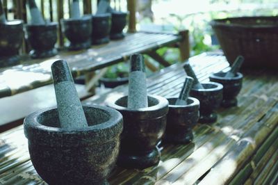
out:
<path id="1" fill-rule="evenodd" d="M 60 127 L 80 129 L 88 127 L 85 113 L 77 95 L 70 68 L 66 61 L 55 61 L 51 65 L 56 94 Z"/>

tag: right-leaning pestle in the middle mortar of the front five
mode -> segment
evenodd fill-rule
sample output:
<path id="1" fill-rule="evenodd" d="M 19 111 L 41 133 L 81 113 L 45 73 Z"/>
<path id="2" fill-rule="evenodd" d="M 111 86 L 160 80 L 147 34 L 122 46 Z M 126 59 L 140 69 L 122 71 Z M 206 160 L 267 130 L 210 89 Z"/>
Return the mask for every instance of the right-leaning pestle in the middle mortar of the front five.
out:
<path id="1" fill-rule="evenodd" d="M 186 77 L 186 80 L 183 83 L 183 87 L 181 89 L 181 93 L 179 93 L 179 97 L 175 103 L 175 105 L 186 105 L 189 92 L 192 88 L 194 79 L 192 77 Z"/>

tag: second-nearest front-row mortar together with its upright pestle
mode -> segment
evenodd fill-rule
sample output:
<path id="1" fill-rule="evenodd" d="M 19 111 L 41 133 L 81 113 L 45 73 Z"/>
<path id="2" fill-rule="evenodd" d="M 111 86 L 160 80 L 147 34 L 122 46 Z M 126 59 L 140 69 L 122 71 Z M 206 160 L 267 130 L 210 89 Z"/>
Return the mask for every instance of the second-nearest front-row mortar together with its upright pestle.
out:
<path id="1" fill-rule="evenodd" d="M 167 99 L 147 95 L 145 64 L 142 55 L 131 56 L 129 94 L 107 105 L 122 113 L 124 131 L 118 166 L 143 169 L 160 161 L 156 145 L 166 127 Z"/>

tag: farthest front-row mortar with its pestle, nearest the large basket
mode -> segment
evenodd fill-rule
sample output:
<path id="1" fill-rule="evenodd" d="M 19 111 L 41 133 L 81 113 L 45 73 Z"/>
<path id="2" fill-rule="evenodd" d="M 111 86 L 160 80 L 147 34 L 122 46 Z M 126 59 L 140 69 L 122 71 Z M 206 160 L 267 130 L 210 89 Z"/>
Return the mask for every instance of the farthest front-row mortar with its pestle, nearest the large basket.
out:
<path id="1" fill-rule="evenodd" d="M 237 106 L 236 96 L 243 86 L 243 74 L 238 72 L 243 64 L 243 56 L 238 56 L 228 72 L 217 72 L 210 75 L 210 81 L 218 82 L 223 85 L 223 101 L 221 106 Z"/>

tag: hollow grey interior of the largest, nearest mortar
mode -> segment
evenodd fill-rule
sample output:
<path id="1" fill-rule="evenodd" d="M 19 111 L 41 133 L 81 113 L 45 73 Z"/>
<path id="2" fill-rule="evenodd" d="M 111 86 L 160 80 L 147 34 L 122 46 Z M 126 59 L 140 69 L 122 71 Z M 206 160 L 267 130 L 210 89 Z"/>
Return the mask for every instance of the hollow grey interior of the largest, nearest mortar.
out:
<path id="1" fill-rule="evenodd" d="M 111 118 L 111 115 L 103 109 L 83 108 L 89 126 L 107 122 Z M 47 127 L 60 127 L 57 109 L 44 111 L 38 115 L 38 122 Z"/>

